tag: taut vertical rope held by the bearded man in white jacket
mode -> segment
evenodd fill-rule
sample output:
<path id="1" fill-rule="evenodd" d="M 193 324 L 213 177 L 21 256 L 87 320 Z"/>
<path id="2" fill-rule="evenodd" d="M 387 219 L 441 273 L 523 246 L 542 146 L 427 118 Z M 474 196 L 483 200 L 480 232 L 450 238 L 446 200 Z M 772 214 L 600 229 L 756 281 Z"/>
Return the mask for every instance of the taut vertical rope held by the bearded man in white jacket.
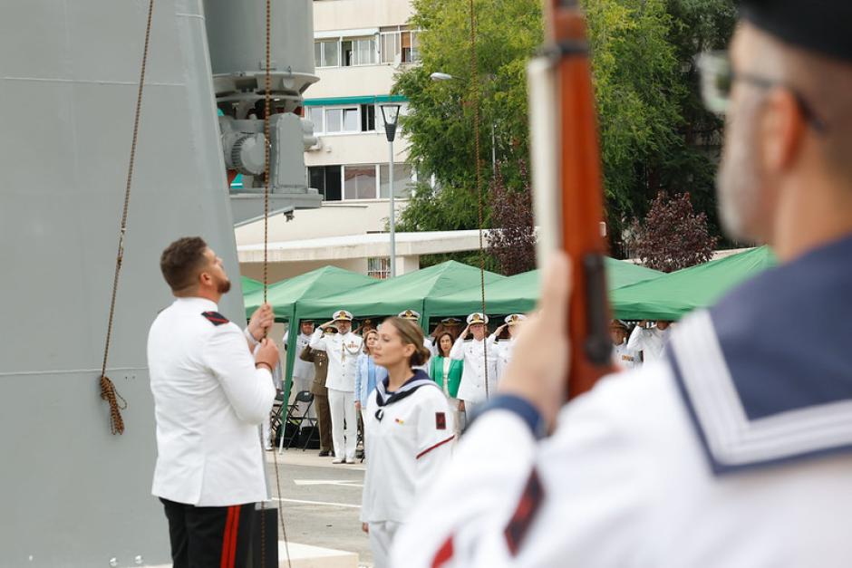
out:
<path id="1" fill-rule="evenodd" d="M 264 194 L 263 194 L 263 303 L 266 303 L 266 293 L 269 288 L 268 250 L 269 250 L 269 159 L 271 156 L 272 140 L 269 138 L 269 116 L 272 113 L 272 0 L 266 0 L 266 72 L 264 73 L 264 137 L 266 138 L 264 160 Z M 264 334 L 266 336 L 266 333 Z M 282 404 L 286 401 L 282 400 Z M 264 440 L 266 444 L 266 440 Z M 276 467 L 276 490 L 281 496 L 281 476 L 278 473 L 278 453 L 273 450 L 272 460 Z M 260 503 L 262 512 L 266 511 L 266 502 Z M 281 524 L 281 534 L 284 536 L 284 549 L 287 556 L 287 566 L 293 568 L 290 560 L 290 543 L 287 539 L 287 527 L 284 524 L 284 505 L 278 503 L 278 521 Z M 277 538 L 277 534 L 276 534 Z M 260 517 L 260 564 L 266 568 L 266 515 Z"/>

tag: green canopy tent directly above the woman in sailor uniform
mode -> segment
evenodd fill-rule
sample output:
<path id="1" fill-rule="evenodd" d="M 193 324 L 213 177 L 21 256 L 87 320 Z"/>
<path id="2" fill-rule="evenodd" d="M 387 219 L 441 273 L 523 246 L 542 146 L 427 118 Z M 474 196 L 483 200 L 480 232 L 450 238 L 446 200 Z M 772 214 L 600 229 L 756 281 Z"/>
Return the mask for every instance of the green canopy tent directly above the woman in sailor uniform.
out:
<path id="1" fill-rule="evenodd" d="M 486 283 L 503 279 L 504 276 L 499 274 L 485 272 Z M 450 294 L 479 282 L 479 268 L 450 260 L 384 280 L 363 290 L 299 302 L 296 313 L 299 318 L 324 318 L 326 321 L 338 309 L 349 310 L 355 318 L 395 315 L 407 309 L 423 313 L 428 298 Z M 426 329 L 427 323 L 425 318 L 421 320 L 423 329 Z"/>

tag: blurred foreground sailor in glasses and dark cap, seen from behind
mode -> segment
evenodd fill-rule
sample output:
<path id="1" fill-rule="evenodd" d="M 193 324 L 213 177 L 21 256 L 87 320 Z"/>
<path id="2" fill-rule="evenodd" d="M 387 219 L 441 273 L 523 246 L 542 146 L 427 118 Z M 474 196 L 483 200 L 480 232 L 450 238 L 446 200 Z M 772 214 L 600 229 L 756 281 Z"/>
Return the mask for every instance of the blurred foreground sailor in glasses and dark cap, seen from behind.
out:
<path id="1" fill-rule="evenodd" d="M 730 64 L 702 60 L 705 100 L 735 117 L 721 219 L 781 264 L 684 319 L 663 361 L 561 408 L 569 277 L 553 255 L 501 395 L 394 565 L 852 566 L 850 22 L 848 0 L 744 0 Z"/>

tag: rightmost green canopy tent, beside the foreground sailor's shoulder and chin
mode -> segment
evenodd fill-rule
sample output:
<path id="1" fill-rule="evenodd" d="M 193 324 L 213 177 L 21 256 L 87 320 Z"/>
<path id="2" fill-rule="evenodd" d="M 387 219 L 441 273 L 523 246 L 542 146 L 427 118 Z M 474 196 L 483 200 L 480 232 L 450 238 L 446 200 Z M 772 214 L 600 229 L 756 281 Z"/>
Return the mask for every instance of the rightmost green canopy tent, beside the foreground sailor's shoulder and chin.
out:
<path id="1" fill-rule="evenodd" d="M 684 268 L 611 294 L 615 316 L 624 320 L 679 320 L 715 303 L 737 284 L 776 265 L 768 246 Z"/>

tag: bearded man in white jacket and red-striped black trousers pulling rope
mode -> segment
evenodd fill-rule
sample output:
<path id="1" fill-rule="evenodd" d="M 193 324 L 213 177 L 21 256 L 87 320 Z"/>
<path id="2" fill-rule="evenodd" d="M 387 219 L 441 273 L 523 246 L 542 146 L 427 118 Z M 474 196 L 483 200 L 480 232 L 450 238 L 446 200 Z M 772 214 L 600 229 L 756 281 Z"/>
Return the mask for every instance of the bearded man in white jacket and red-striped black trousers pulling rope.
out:
<path id="1" fill-rule="evenodd" d="M 177 299 L 148 335 L 157 421 L 151 493 L 165 507 L 177 568 L 245 566 L 252 510 L 267 498 L 257 426 L 276 395 L 278 351 L 264 339 L 272 308 L 262 305 L 245 332 L 218 313 L 230 281 L 199 237 L 169 245 L 160 269 Z"/>

